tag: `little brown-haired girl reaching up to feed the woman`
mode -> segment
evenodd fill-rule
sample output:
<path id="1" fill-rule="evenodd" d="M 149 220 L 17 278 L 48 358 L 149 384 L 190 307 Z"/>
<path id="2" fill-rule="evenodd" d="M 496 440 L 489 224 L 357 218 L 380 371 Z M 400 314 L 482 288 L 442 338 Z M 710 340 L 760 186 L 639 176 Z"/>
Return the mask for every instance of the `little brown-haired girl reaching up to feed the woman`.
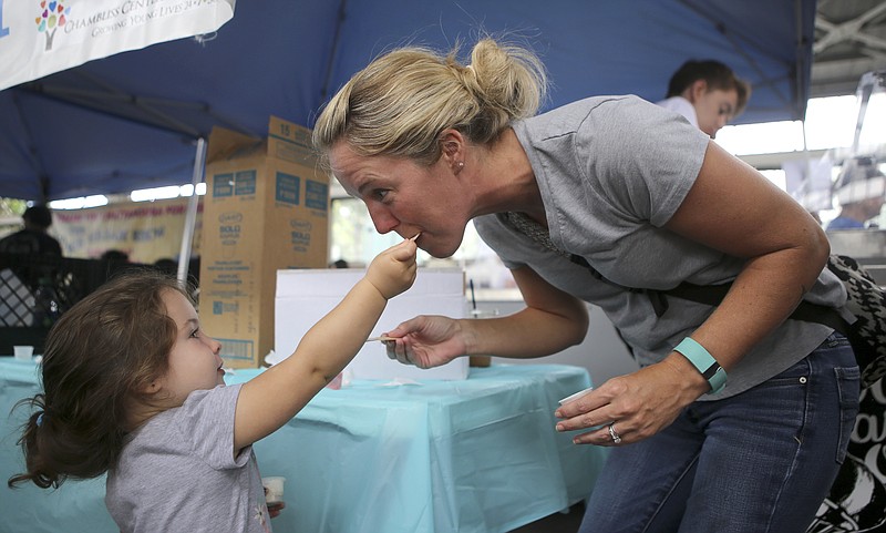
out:
<path id="1" fill-rule="evenodd" d="M 295 353 L 224 387 L 220 345 L 176 280 L 127 273 L 50 331 L 43 393 L 20 440 L 32 481 L 107 472 L 105 503 L 124 532 L 270 531 L 251 444 L 290 420 L 357 355 L 389 298 L 415 278 L 412 239 L 380 254 Z"/>

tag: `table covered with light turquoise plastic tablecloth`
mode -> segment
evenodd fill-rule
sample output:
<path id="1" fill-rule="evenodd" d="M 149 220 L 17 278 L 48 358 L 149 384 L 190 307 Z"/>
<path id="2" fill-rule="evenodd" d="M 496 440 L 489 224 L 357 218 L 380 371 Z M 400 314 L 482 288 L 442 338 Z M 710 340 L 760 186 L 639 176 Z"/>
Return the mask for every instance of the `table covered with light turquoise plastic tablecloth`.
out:
<path id="1" fill-rule="evenodd" d="M 260 370 L 237 370 L 229 383 Z M 276 532 L 474 532 L 519 527 L 585 499 L 606 450 L 554 431 L 557 401 L 590 385 L 584 368 L 494 365 L 466 380 L 322 390 L 255 444 L 264 475 L 287 478 Z M 0 358 L 0 475 L 23 463 L 14 429 L 38 391 L 37 366 Z M 59 491 L 23 485 L 0 499 L 0 532 L 117 531 L 104 479 Z M 82 525 L 81 525 L 82 524 Z M 8 529 L 10 527 L 10 529 Z"/>

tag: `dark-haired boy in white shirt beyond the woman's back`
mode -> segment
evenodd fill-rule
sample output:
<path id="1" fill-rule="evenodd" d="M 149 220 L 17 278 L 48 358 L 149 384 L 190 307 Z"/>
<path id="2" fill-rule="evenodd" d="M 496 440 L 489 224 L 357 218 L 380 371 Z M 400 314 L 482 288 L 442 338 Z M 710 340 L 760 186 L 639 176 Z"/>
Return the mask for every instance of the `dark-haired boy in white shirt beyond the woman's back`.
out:
<path id="1" fill-rule="evenodd" d="M 668 83 L 659 106 L 683 115 L 690 124 L 714 139 L 727 122 L 748 105 L 751 85 L 732 69 L 714 60 L 683 63 Z"/>

